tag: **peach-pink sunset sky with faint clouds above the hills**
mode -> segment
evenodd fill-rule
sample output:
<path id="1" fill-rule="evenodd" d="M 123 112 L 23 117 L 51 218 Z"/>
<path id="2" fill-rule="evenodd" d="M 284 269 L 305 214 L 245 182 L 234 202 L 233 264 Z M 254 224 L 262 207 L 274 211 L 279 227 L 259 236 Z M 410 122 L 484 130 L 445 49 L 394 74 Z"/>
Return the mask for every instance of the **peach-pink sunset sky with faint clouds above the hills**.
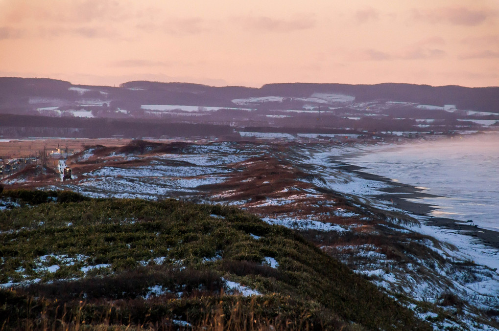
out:
<path id="1" fill-rule="evenodd" d="M 0 76 L 499 86 L 499 0 L 0 0 Z"/>

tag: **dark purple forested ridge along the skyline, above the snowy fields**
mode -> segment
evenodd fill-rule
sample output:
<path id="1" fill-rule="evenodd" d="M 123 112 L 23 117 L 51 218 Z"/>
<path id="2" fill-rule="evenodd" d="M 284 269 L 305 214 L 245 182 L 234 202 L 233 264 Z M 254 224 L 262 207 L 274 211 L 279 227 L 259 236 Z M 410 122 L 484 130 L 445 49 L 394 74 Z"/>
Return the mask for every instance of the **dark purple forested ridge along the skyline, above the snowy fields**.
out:
<path id="1" fill-rule="evenodd" d="M 429 86 L 383 83 L 375 85 L 281 83 L 261 88 L 241 86 L 213 87 L 191 83 L 131 81 L 119 87 L 73 85 L 48 78 L 0 78 L 0 110 L 27 105 L 30 98 L 44 97 L 74 101 L 78 98 L 106 96 L 114 103 L 200 105 L 234 107 L 234 99 L 279 96 L 310 97 L 314 93 L 337 93 L 354 97 L 356 102 L 390 100 L 443 106 L 458 109 L 497 111 L 499 87 L 469 88 L 462 86 Z"/>

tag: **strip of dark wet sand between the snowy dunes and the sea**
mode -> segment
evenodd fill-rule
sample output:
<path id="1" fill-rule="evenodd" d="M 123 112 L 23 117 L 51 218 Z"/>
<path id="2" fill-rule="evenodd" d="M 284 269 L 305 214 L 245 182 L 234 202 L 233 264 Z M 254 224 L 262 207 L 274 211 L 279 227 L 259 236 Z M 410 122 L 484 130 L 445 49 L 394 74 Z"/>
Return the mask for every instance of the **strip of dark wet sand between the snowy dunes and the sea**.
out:
<path id="1" fill-rule="evenodd" d="M 463 222 L 447 217 L 434 217 L 430 213 L 433 210 L 437 210 L 435 206 L 424 202 L 407 200 L 438 197 L 438 195 L 425 193 L 422 189 L 410 184 L 396 182 L 388 177 L 367 172 L 364 167 L 345 163 L 344 158 L 341 158 L 341 161 L 339 161 L 340 158 L 334 159 L 334 163 L 338 165 L 337 168 L 342 171 L 353 173 L 362 179 L 383 182 L 385 185 L 381 190 L 386 194 L 378 194 L 375 196 L 376 199 L 392 202 L 393 206 L 396 208 L 414 215 L 424 216 L 424 221 L 427 225 L 456 230 L 462 235 L 478 239 L 480 243 L 486 246 L 499 249 L 499 231 L 484 229 L 472 222 Z"/>

